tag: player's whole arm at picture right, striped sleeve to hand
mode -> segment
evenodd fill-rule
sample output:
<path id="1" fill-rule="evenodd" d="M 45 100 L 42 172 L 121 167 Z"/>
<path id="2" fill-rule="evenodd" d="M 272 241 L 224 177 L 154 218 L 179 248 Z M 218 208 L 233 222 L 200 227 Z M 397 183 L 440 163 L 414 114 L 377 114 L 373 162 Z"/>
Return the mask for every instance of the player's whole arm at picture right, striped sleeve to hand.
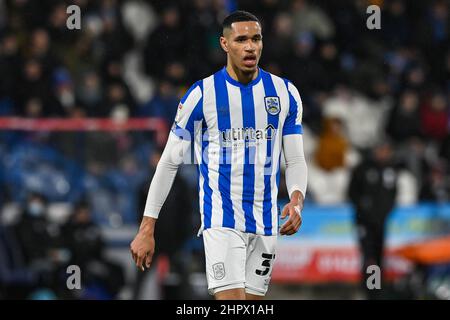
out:
<path id="1" fill-rule="evenodd" d="M 292 235 L 302 224 L 301 212 L 306 195 L 308 168 L 303 151 L 302 101 L 291 82 L 286 82 L 286 87 L 289 91 L 289 114 L 283 126 L 283 152 L 290 201 L 281 213 L 281 218 L 289 215 L 289 219 L 281 226 L 280 233 Z"/>

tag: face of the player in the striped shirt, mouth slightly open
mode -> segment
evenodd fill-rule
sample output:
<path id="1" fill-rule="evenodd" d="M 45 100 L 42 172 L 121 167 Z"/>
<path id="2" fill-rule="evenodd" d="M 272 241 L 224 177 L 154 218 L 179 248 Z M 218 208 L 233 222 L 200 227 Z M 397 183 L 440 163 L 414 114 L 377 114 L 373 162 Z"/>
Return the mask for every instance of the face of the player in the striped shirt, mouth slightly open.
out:
<path id="1" fill-rule="evenodd" d="M 221 38 L 221 45 L 239 70 L 255 72 L 263 47 L 261 26 L 256 21 L 234 22 Z"/>

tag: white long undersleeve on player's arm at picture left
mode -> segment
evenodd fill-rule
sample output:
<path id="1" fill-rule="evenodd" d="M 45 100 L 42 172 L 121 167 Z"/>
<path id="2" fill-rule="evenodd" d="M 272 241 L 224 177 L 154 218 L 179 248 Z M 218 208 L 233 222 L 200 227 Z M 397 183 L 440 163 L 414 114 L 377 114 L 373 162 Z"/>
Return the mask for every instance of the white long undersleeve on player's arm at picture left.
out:
<path id="1" fill-rule="evenodd" d="M 148 190 L 144 216 L 158 218 L 172 188 L 178 167 L 183 163 L 185 157 L 190 156 L 190 144 L 190 141 L 180 139 L 172 132 L 169 134 L 169 139 Z"/>

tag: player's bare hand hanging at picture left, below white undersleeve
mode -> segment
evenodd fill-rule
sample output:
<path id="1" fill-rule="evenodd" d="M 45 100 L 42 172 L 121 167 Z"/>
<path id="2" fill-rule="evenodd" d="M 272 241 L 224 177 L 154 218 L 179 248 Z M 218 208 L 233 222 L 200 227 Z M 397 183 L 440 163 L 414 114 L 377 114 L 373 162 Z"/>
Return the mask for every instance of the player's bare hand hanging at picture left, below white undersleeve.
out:
<path id="1" fill-rule="evenodd" d="M 149 226 L 144 218 L 138 234 L 130 244 L 131 256 L 133 257 L 136 267 L 144 271 L 148 269 L 152 263 L 153 253 L 155 252 L 155 238 L 153 237 L 153 227 L 149 231 Z M 154 226 L 154 224 L 153 224 Z"/>

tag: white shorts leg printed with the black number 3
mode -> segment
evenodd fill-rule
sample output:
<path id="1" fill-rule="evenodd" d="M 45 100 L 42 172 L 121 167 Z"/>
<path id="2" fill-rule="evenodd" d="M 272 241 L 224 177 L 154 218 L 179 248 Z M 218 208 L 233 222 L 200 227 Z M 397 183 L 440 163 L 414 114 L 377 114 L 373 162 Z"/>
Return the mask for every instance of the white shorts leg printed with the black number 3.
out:
<path id="1" fill-rule="evenodd" d="M 245 291 L 249 297 L 266 294 L 272 276 L 276 246 L 277 236 L 256 235 L 249 241 L 245 271 Z"/>

